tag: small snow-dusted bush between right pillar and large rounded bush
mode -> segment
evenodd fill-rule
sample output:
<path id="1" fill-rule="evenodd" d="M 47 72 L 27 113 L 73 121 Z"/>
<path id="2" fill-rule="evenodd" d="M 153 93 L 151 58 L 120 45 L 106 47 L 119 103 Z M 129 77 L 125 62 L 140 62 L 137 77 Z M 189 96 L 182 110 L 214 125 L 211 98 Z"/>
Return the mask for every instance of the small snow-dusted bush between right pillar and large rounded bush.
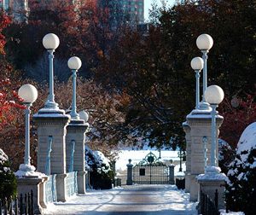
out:
<path id="1" fill-rule="evenodd" d="M 236 151 L 228 142 L 218 139 L 218 166 L 225 174 L 229 171 L 230 163 L 235 159 Z"/>

